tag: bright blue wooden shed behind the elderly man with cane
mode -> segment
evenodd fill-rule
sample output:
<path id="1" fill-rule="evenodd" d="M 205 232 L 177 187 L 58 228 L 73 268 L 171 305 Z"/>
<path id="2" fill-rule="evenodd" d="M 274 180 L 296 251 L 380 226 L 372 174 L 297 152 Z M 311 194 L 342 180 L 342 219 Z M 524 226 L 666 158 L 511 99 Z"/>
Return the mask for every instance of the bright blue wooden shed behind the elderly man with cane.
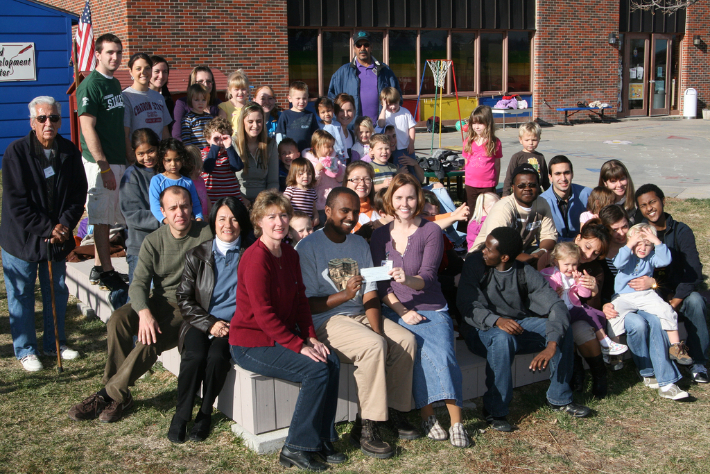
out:
<path id="1" fill-rule="evenodd" d="M 72 25 L 78 23 L 79 17 L 32 0 L 2 0 L 0 3 L 0 50 L 3 44 L 34 43 L 36 73 L 36 80 L 0 81 L 1 167 L 7 146 L 30 131 L 27 104 L 39 95 L 50 95 L 62 103 L 59 133 L 70 139 L 67 89 L 74 82 L 70 63 Z M 0 57 L 0 66 L 3 60 L 10 59 Z"/>

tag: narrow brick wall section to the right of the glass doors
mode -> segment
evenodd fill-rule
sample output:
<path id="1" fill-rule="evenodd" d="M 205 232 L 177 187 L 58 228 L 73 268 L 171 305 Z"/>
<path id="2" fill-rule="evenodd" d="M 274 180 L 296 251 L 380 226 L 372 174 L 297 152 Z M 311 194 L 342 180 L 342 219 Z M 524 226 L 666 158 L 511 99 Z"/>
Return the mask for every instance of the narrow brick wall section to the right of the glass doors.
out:
<path id="1" fill-rule="evenodd" d="M 680 113 L 683 114 L 685 90 L 694 87 L 698 93 L 698 117 L 701 117 L 701 109 L 710 107 L 710 7 L 705 2 L 689 6 L 685 18 L 685 36 L 680 43 Z M 695 35 L 700 35 L 700 46 L 693 45 Z"/>

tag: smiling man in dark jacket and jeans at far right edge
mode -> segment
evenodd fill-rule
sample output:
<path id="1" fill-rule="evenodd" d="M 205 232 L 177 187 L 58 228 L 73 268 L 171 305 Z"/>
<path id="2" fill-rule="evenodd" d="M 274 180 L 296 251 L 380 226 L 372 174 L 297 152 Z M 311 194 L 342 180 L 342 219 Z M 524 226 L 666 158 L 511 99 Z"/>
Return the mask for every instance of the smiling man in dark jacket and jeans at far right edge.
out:
<path id="1" fill-rule="evenodd" d="M 667 245 L 672 262 L 669 266 L 653 272 L 656 292 L 678 312 L 679 320 L 688 333 L 688 354 L 693 358 L 690 368 L 695 382 L 708 383 L 708 346 L 710 338 L 705 319 L 705 299 L 695 291 L 703 280 L 703 264 L 700 263 L 693 231 L 683 222 L 678 222 L 664 212 L 665 195 L 655 184 L 645 184 L 636 191 L 636 205 L 643 221 L 655 227 L 658 239 Z"/>

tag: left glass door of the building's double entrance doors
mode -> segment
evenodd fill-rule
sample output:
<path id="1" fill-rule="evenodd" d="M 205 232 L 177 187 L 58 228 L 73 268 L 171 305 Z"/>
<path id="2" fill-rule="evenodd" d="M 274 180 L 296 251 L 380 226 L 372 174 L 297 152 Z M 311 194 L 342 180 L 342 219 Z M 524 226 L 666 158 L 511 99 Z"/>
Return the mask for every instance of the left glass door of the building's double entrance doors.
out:
<path id="1" fill-rule="evenodd" d="M 648 115 L 648 35 L 629 33 L 626 41 L 626 107 L 627 114 Z"/>

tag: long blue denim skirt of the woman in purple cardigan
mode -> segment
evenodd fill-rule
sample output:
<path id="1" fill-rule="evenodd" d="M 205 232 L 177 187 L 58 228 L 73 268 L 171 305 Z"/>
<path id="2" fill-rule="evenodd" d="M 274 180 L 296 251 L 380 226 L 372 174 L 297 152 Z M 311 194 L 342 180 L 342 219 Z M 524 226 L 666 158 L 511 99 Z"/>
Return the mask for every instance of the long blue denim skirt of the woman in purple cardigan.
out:
<path id="1" fill-rule="evenodd" d="M 417 311 L 426 319 L 407 324 L 390 308 L 382 314 L 412 332 L 417 340 L 412 394 L 417 409 L 439 400 L 455 400 L 463 406 L 463 377 L 456 358 L 454 323 L 446 311 Z"/>

